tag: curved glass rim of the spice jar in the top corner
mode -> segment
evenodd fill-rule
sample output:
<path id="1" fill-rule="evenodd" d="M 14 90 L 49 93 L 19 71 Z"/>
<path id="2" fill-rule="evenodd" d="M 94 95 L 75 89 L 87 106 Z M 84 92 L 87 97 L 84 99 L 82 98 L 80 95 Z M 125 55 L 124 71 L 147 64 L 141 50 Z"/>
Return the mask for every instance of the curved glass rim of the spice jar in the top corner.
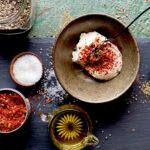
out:
<path id="1" fill-rule="evenodd" d="M 0 24 L 7 24 L 13 22 L 16 18 L 20 16 L 20 14 L 23 12 L 24 8 L 26 7 L 27 0 L 21 0 L 21 6 L 19 7 L 19 10 L 16 14 L 14 14 L 11 17 L 8 17 L 6 19 L 0 19 Z"/>

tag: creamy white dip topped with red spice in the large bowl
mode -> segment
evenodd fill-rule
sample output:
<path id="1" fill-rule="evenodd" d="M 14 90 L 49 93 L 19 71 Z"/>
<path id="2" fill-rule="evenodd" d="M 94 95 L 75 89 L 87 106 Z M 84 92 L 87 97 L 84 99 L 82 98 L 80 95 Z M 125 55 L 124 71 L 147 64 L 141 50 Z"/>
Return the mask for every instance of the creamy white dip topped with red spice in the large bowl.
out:
<path id="1" fill-rule="evenodd" d="M 80 64 L 90 75 L 99 80 L 110 80 L 122 69 L 122 54 L 111 42 L 99 46 L 106 37 L 97 33 L 82 33 L 72 52 L 72 61 Z"/>

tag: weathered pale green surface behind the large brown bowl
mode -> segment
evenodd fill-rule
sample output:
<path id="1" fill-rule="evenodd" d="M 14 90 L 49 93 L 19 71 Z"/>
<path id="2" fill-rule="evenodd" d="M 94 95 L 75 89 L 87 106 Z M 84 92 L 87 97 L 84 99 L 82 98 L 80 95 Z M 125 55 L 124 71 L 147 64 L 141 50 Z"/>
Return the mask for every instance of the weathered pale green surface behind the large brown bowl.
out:
<path id="1" fill-rule="evenodd" d="M 36 20 L 30 37 L 56 36 L 70 20 L 87 13 L 111 15 L 125 25 L 150 6 L 150 0 L 35 0 Z M 150 11 L 132 27 L 135 37 L 150 37 Z"/>

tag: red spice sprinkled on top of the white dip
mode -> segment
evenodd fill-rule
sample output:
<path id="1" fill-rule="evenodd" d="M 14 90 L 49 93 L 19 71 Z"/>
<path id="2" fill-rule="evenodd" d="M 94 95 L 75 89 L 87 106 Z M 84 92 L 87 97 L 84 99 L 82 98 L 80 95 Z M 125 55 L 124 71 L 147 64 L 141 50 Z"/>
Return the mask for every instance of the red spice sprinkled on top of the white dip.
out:
<path id="1" fill-rule="evenodd" d="M 94 45 L 94 46 L 93 46 Z M 91 49 L 94 47 L 96 48 L 96 44 L 91 44 L 90 46 L 85 47 L 84 51 L 82 51 L 81 59 L 83 61 L 88 61 L 88 56 L 91 55 Z M 94 73 L 94 71 L 97 71 L 98 73 L 101 73 L 102 71 L 105 72 L 105 74 L 108 74 L 108 71 L 115 66 L 117 62 L 117 56 L 114 51 L 112 51 L 112 45 L 110 43 L 106 43 L 101 49 L 98 50 L 98 58 L 95 54 L 92 54 L 90 57 L 90 63 L 87 63 L 84 66 L 84 69 L 89 71 L 91 74 Z"/>

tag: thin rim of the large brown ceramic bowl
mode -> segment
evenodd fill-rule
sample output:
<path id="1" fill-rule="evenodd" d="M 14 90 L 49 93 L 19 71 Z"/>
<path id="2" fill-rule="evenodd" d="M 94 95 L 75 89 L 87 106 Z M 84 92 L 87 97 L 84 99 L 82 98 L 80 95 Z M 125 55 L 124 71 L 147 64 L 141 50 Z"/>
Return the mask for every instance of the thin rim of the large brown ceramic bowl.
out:
<path id="1" fill-rule="evenodd" d="M 119 24 L 121 24 L 124 28 L 126 27 L 124 25 L 123 22 L 121 22 L 120 20 L 118 20 L 117 18 L 113 17 L 113 16 L 110 16 L 110 15 L 107 15 L 107 14 L 104 14 L 104 13 L 88 13 L 88 14 L 84 14 L 84 15 L 81 15 L 81 16 L 78 16 L 76 18 L 74 18 L 73 20 L 71 20 L 69 23 L 67 23 L 63 28 L 62 30 L 57 34 L 56 36 L 56 40 L 54 42 L 54 45 L 53 45 L 53 48 L 52 48 L 52 61 L 53 61 L 53 65 L 54 65 L 54 72 L 55 72 L 55 75 L 56 75 L 56 78 L 57 80 L 59 81 L 60 85 L 63 87 L 63 89 L 69 93 L 72 97 L 82 101 L 82 102 L 86 102 L 86 103 L 91 103 L 91 104 L 101 104 L 101 103 L 106 103 L 106 102 L 110 102 L 110 101 L 113 101 L 117 98 L 119 98 L 121 95 L 123 95 L 133 84 L 133 82 L 135 81 L 136 79 L 136 76 L 138 74 L 138 71 L 139 71 L 139 66 L 140 66 L 140 51 L 139 51 L 139 48 L 138 48 L 138 44 L 137 44 L 137 41 L 135 39 L 135 37 L 133 36 L 133 34 L 131 33 L 130 29 L 128 28 L 127 31 L 129 32 L 129 34 L 131 35 L 131 38 L 133 39 L 134 41 L 134 44 L 135 44 L 135 47 L 136 47 L 136 51 L 137 51 L 137 66 L 135 68 L 135 77 L 132 78 L 132 81 L 130 82 L 130 84 L 128 84 L 128 86 L 122 91 L 120 92 L 119 94 L 117 94 L 117 96 L 115 96 L 115 98 L 109 98 L 107 100 L 101 100 L 101 101 L 92 101 L 92 100 L 88 100 L 86 101 L 85 99 L 81 99 L 79 98 L 78 96 L 75 96 L 74 94 L 72 94 L 71 92 L 69 92 L 62 84 L 62 81 L 59 79 L 59 75 L 56 71 L 56 65 L 55 65 L 55 49 L 56 49 L 56 45 L 58 43 L 58 40 L 59 40 L 59 37 L 63 34 L 63 32 L 66 30 L 66 28 L 68 28 L 69 26 L 71 26 L 74 22 L 82 19 L 82 18 L 85 18 L 85 17 L 90 17 L 90 16 L 103 16 L 103 17 L 107 17 L 107 18 L 110 18 L 110 19 L 113 19 L 114 21 L 118 22 Z"/>

